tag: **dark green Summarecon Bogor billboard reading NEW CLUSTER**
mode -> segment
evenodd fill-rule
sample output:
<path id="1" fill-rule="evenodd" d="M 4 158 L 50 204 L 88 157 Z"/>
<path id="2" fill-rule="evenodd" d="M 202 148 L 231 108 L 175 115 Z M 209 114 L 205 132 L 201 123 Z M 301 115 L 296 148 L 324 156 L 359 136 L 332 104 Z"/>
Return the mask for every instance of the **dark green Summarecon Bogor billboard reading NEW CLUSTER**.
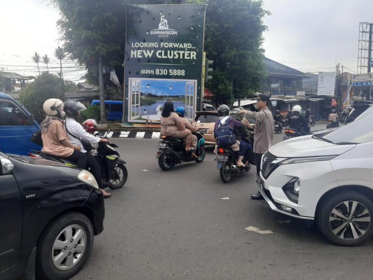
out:
<path id="1" fill-rule="evenodd" d="M 165 101 L 200 109 L 205 5 L 127 5 L 125 122 L 159 121 Z"/>

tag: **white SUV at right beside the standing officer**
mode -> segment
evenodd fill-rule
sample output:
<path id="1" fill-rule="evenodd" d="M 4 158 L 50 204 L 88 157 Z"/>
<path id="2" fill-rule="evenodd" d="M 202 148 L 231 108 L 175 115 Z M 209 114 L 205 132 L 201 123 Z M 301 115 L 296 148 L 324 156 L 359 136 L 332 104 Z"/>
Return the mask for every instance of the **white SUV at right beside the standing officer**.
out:
<path id="1" fill-rule="evenodd" d="M 373 235 L 373 115 L 323 134 L 280 142 L 261 162 L 259 185 L 277 212 L 315 220 L 332 243 Z"/>

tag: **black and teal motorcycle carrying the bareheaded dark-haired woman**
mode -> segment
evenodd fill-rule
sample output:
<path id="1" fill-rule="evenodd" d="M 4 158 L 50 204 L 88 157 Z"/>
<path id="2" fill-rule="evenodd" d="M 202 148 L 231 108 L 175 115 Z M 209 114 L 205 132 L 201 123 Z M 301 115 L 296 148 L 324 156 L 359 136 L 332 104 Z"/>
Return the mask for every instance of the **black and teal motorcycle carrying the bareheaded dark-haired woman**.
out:
<path id="1" fill-rule="evenodd" d="M 197 147 L 195 154 L 198 158 L 191 156 L 190 152 L 185 150 L 185 141 L 183 139 L 162 136 L 162 140 L 158 142 L 156 148 L 158 148 L 157 156 L 159 167 L 168 171 L 174 168 L 175 165 L 183 162 L 195 161 L 200 163 L 204 160 L 205 149 L 204 149 L 204 137 L 203 133 L 198 131 L 193 133 L 197 136 Z"/>

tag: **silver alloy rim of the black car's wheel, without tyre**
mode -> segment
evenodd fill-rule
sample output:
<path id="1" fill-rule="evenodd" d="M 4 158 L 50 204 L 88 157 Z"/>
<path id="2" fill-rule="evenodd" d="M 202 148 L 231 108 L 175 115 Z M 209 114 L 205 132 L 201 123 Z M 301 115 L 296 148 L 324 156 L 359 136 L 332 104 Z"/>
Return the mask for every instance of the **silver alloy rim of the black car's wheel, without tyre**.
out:
<path id="1" fill-rule="evenodd" d="M 59 270 L 75 266 L 84 255 L 87 234 L 80 225 L 69 225 L 57 236 L 52 247 L 52 261 Z"/>

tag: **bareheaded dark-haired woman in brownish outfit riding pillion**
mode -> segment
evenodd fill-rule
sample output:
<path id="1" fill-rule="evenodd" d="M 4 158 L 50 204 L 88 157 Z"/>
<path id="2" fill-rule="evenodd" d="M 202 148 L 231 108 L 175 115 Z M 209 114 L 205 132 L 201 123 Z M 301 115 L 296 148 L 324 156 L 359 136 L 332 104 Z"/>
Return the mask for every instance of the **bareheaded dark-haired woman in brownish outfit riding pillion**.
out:
<path id="1" fill-rule="evenodd" d="M 161 115 L 161 136 L 172 136 L 185 140 L 185 150 L 194 152 L 190 147 L 191 131 L 185 128 L 185 124 L 179 115 L 174 112 L 174 103 L 166 101 Z"/>

